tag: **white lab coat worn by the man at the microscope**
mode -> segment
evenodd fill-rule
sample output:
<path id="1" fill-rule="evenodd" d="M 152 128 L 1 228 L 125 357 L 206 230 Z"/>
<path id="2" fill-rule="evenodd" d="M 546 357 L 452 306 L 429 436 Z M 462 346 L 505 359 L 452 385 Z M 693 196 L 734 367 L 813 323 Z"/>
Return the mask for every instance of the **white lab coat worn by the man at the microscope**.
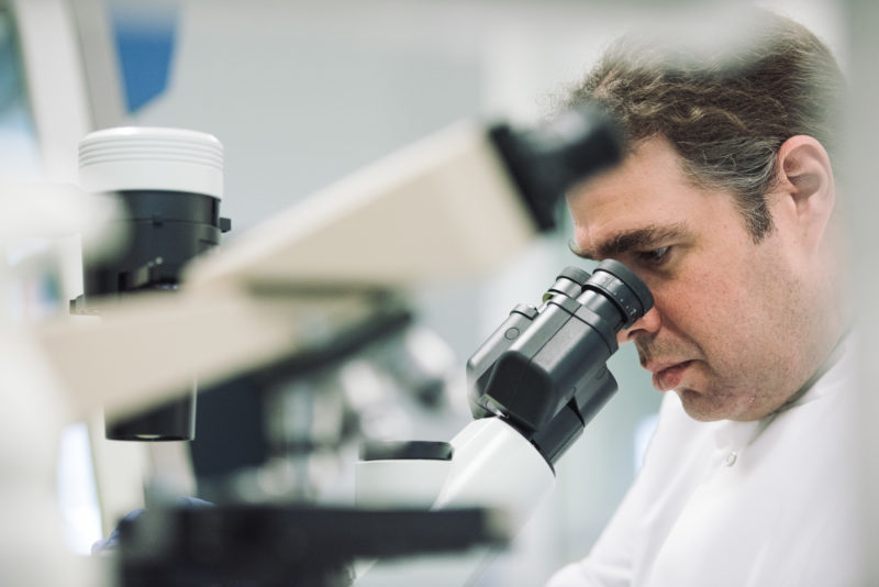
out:
<path id="1" fill-rule="evenodd" d="M 854 348 L 760 422 L 665 398 L 645 464 L 590 555 L 547 587 L 863 585 Z"/>

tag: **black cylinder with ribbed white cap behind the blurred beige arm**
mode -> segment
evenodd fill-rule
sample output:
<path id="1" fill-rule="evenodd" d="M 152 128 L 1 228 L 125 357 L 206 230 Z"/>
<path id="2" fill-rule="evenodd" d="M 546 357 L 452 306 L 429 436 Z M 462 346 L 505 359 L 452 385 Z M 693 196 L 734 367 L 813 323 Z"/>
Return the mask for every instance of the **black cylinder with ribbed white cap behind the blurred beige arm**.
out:
<path id="1" fill-rule="evenodd" d="M 79 185 L 115 201 L 115 251 L 84 251 L 85 292 L 71 312 L 99 315 L 120 296 L 179 289 L 183 266 L 220 244 L 223 147 L 204 133 L 177 129 L 97 131 L 79 144 Z M 194 377 L 193 377 L 194 378 Z M 192 440 L 197 384 L 185 398 L 107 422 L 110 440 Z"/>

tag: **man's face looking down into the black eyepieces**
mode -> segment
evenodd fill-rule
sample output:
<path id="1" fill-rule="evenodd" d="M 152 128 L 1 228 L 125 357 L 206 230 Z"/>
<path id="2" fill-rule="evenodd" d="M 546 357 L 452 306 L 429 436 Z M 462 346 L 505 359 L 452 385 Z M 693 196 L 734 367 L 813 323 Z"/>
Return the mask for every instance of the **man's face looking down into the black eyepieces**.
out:
<path id="1" fill-rule="evenodd" d="M 578 252 L 615 258 L 650 288 L 654 308 L 620 340 L 690 417 L 763 418 L 812 374 L 811 269 L 790 224 L 755 243 L 732 196 L 694 187 L 661 139 L 572 190 L 568 206 Z"/>

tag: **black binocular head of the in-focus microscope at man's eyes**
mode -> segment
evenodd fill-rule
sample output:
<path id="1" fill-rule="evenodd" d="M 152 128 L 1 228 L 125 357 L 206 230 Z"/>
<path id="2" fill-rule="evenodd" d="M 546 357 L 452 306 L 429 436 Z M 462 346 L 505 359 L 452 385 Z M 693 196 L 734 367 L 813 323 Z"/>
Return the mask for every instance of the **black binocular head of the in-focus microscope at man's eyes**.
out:
<path id="1" fill-rule="evenodd" d="M 539 308 L 516 306 L 468 361 L 474 417 L 508 420 L 555 463 L 616 391 L 607 368 L 616 333 L 652 307 L 622 263 L 603 261 L 591 276 L 567 267 Z"/>

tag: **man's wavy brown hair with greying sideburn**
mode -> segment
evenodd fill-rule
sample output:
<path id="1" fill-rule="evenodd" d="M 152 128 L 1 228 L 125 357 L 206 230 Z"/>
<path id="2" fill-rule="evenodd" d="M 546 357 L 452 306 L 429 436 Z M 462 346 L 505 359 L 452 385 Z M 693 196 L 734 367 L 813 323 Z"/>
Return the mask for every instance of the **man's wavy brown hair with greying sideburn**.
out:
<path id="1" fill-rule="evenodd" d="M 746 46 L 700 49 L 628 34 L 604 53 L 566 106 L 597 101 L 630 145 L 667 139 L 701 187 L 731 191 L 755 242 L 772 230 L 766 193 L 791 136 L 816 139 L 833 156 L 845 81 L 808 29 L 759 11 Z"/>

